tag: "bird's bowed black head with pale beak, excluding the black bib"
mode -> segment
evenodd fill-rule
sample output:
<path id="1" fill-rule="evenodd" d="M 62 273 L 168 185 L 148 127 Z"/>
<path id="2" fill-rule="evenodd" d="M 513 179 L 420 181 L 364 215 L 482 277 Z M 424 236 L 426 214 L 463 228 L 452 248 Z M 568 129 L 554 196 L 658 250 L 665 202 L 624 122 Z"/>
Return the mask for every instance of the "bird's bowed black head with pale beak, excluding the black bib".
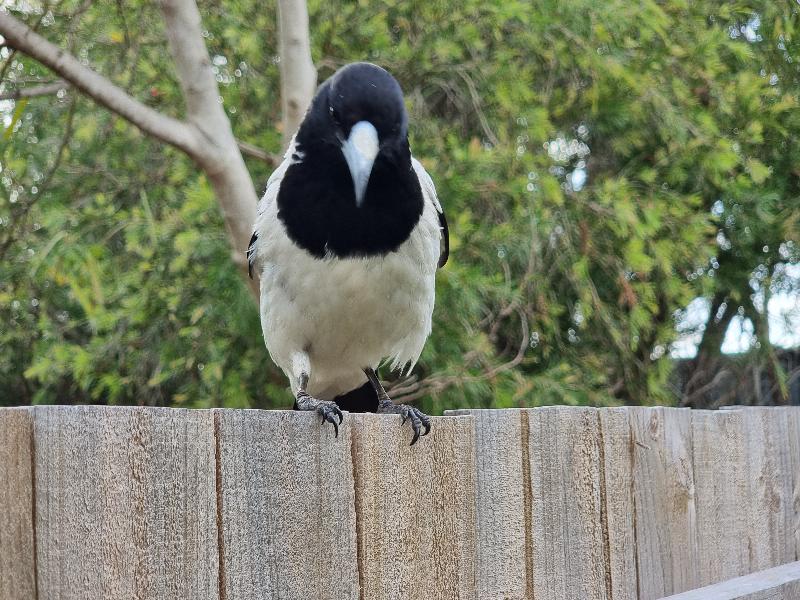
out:
<path id="1" fill-rule="evenodd" d="M 309 117 L 340 147 L 353 179 L 357 206 L 364 202 L 378 155 L 408 153 L 403 92 L 395 78 L 377 65 L 351 63 L 336 71 L 320 87 Z"/>

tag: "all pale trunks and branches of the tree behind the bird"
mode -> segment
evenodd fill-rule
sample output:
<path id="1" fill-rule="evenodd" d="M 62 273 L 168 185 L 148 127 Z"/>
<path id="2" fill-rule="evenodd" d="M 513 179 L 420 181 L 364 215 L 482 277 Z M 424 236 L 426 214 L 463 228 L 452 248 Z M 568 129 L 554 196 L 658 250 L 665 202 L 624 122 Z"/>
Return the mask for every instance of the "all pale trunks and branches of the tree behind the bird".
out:
<path id="1" fill-rule="evenodd" d="M 162 0 L 170 52 L 186 102 L 186 120 L 178 120 L 142 104 L 111 81 L 85 67 L 0 10 L 0 34 L 5 44 L 38 60 L 63 82 L 53 91 L 72 86 L 123 117 L 144 133 L 185 152 L 208 177 L 225 219 L 225 228 L 239 271 L 247 276 L 245 253 L 256 216 L 253 180 L 242 159 L 252 156 L 274 162 L 267 153 L 237 142 L 220 101 L 211 61 L 203 41 L 200 13 L 194 0 Z M 291 138 L 308 106 L 316 81 L 311 62 L 308 12 L 304 0 L 280 1 L 281 87 L 284 97 L 284 137 Z M 43 90 L 37 89 L 35 95 Z M 19 92 L 20 97 L 25 96 Z M 34 94 L 31 94 L 34 95 Z M 256 282 L 250 289 L 258 297 Z"/>

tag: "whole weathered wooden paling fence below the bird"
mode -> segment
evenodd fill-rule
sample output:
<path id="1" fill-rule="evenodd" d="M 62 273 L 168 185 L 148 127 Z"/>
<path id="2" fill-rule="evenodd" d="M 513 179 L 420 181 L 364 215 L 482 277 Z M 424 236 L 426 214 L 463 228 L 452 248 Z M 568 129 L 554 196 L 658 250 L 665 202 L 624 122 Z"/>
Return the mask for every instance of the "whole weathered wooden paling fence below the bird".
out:
<path id="1" fill-rule="evenodd" d="M 0 409 L 0 598 L 650 600 L 798 559 L 800 408 L 457 411 L 409 439 Z"/>

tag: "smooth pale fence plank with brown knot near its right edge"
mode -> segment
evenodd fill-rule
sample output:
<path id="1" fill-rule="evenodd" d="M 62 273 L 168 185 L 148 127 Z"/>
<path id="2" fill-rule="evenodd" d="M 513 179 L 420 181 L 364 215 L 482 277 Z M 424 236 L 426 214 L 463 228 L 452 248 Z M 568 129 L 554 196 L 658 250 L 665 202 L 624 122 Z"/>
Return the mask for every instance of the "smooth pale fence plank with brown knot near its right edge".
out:
<path id="1" fill-rule="evenodd" d="M 641 600 L 699 585 L 689 409 L 631 409 Z"/>

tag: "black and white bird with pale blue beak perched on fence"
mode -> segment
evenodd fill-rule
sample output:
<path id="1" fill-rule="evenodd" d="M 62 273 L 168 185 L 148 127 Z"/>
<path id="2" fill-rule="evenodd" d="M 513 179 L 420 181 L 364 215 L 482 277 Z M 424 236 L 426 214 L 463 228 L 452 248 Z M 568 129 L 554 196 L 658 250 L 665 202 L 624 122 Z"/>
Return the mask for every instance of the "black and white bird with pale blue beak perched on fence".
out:
<path id="1" fill-rule="evenodd" d="M 395 404 L 382 365 L 410 373 L 431 333 L 449 233 L 433 181 L 411 155 L 397 80 L 367 62 L 316 91 L 259 201 L 247 250 L 260 317 L 294 408 L 338 437 L 342 410 L 397 414 L 411 445 L 428 415 Z"/>

